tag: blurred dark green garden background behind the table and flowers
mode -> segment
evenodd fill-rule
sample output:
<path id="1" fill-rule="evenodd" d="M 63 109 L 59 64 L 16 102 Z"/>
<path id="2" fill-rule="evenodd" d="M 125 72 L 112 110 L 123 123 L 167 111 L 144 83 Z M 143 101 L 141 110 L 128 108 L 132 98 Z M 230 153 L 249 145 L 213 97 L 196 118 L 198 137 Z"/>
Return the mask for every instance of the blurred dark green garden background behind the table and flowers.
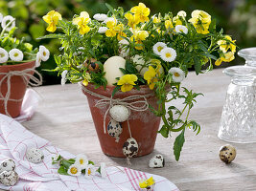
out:
<path id="1" fill-rule="evenodd" d="M 232 35 L 237 40 L 240 49 L 246 47 L 256 47 L 256 0 L 0 0 L 0 12 L 4 15 L 11 14 L 16 18 L 17 37 L 25 36 L 27 41 L 35 47 L 46 46 L 52 53 L 47 62 L 43 62 L 38 69 L 43 74 L 44 84 L 57 84 L 60 77 L 57 73 L 49 73 L 42 69 L 54 69 L 56 67 L 53 54 L 58 53 L 59 43 L 57 40 L 36 40 L 48 32 L 45 31 L 47 25 L 42 20 L 42 16 L 48 11 L 58 11 L 63 18 L 72 18 L 73 15 L 81 11 L 87 11 L 91 17 L 95 13 L 107 11 L 105 3 L 112 7 L 123 7 L 128 11 L 131 7 L 143 2 L 151 9 L 151 13 L 165 13 L 172 11 L 186 11 L 190 13 L 194 10 L 207 11 L 212 18 L 217 18 L 219 29 L 224 33 Z M 220 28 L 221 27 L 221 28 Z M 222 64 L 221 67 L 244 64 L 244 60 L 236 56 L 231 63 Z"/>

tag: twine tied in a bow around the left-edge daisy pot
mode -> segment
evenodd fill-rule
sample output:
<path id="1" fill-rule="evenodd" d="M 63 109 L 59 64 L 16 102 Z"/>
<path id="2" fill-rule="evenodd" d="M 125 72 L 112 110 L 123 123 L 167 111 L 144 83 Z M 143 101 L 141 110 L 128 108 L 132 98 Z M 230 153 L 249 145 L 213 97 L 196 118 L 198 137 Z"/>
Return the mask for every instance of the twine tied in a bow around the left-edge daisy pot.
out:
<path id="1" fill-rule="evenodd" d="M 30 74 L 33 73 L 33 74 Z M 34 76 L 34 74 L 38 75 L 38 78 Z M 20 76 L 23 79 L 23 82 L 25 84 L 29 84 L 30 86 L 40 86 L 42 85 L 42 75 L 39 74 L 36 70 L 35 67 L 32 69 L 25 69 L 23 71 L 10 71 L 7 73 L 0 73 L 0 75 L 4 75 L 3 78 L 0 80 L 0 88 L 3 85 L 3 82 L 5 81 L 5 79 L 7 80 L 7 93 L 5 96 L 3 96 L 3 94 L 0 91 L 0 100 L 4 100 L 4 107 L 5 107 L 5 113 L 7 116 L 11 117 L 11 115 L 9 114 L 8 110 L 7 110 L 7 105 L 8 105 L 8 101 L 15 101 L 15 102 L 19 102 L 22 101 L 23 98 L 20 99 L 12 99 L 11 96 L 11 88 L 12 88 L 12 84 L 11 84 L 11 78 L 12 76 Z"/>

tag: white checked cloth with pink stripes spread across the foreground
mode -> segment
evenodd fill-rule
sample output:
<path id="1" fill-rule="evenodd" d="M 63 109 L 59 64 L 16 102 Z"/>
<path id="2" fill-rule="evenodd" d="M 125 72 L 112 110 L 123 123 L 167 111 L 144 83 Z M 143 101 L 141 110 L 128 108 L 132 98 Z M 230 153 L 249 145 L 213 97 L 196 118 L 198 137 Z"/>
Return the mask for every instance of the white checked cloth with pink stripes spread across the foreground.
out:
<path id="1" fill-rule="evenodd" d="M 41 163 L 34 164 L 26 159 L 26 151 L 31 147 L 43 151 L 45 158 Z M 12 158 L 20 177 L 16 185 L 0 183 L 0 188 L 13 191 L 139 191 L 139 180 L 152 176 L 156 181 L 154 191 L 178 191 L 174 183 L 163 177 L 124 167 L 107 167 L 105 179 L 95 176 L 87 180 L 83 176 L 58 175 L 58 166 L 52 164 L 54 155 L 45 148 L 67 159 L 75 157 L 53 146 L 48 140 L 35 136 L 13 118 L 0 115 L 0 162 Z"/>

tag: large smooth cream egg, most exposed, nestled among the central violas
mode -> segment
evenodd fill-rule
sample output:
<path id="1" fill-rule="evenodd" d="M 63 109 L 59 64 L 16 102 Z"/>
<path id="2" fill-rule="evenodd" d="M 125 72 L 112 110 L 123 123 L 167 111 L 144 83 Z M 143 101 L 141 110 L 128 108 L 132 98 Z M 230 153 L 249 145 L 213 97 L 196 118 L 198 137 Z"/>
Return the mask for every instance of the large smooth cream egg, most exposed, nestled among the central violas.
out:
<path id="1" fill-rule="evenodd" d="M 105 61 L 104 71 L 108 86 L 113 86 L 114 83 L 117 83 L 116 77 L 124 75 L 119 68 L 126 68 L 126 60 L 123 57 L 112 56 Z"/>

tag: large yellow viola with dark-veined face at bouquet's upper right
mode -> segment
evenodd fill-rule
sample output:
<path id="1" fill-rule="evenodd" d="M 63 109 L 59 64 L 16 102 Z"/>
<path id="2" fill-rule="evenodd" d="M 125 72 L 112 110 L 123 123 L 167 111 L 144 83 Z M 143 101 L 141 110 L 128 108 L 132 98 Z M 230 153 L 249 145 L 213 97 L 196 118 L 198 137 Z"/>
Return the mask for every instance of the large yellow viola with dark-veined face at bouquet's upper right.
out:
<path id="1" fill-rule="evenodd" d="M 193 11 L 192 18 L 189 22 L 194 25 L 198 33 L 206 34 L 209 33 L 209 26 L 211 24 L 211 15 L 205 11 Z"/>

